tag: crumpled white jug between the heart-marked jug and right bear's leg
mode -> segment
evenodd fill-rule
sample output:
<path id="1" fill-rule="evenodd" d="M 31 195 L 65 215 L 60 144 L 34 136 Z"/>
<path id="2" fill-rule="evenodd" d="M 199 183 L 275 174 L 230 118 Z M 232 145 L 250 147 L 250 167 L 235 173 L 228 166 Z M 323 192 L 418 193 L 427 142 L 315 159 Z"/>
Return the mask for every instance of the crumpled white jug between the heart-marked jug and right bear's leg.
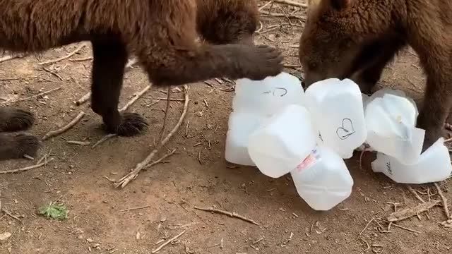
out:
<path id="1" fill-rule="evenodd" d="M 405 93 L 381 90 L 366 107 L 367 143 L 373 150 L 395 157 L 404 164 L 417 161 L 425 131 L 416 128 L 417 108 Z"/>

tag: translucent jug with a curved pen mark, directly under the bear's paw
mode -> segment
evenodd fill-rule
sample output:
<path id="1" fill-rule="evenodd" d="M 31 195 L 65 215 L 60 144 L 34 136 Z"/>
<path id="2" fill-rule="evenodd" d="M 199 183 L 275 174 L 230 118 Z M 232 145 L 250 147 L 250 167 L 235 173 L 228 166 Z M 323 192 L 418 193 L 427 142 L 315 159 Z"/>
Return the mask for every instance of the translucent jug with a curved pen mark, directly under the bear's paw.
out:
<path id="1" fill-rule="evenodd" d="M 289 104 L 304 105 L 304 90 L 300 80 L 289 73 L 280 73 L 264 80 L 239 79 L 232 99 L 234 111 L 253 111 L 272 116 Z"/>

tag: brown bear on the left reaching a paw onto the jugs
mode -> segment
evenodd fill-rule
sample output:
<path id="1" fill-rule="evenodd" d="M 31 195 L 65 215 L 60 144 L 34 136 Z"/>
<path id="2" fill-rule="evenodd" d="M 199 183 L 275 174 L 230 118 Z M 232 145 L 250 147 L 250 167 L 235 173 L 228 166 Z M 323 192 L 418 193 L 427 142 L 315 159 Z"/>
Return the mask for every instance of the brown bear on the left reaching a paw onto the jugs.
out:
<path id="1" fill-rule="evenodd" d="M 220 77 L 262 80 L 283 70 L 278 50 L 253 43 L 256 0 L 0 0 L 0 6 L 0 49 L 34 53 L 91 42 L 91 108 L 109 133 L 136 135 L 147 126 L 138 114 L 118 111 L 131 54 L 155 86 Z M 0 131 L 29 127 L 30 117 L 2 109 L 6 127 Z M 3 157 L 32 155 L 37 139 L 0 134 L 0 147 Z"/>

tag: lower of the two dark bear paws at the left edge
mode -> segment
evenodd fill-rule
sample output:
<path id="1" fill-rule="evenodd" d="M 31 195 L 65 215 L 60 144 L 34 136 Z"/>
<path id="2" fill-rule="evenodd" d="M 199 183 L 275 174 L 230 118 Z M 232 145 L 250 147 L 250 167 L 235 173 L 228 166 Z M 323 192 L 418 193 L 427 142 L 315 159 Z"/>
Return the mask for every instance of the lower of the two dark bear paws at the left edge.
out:
<path id="1" fill-rule="evenodd" d="M 0 133 L 0 160 L 34 157 L 40 141 L 33 135 Z"/>

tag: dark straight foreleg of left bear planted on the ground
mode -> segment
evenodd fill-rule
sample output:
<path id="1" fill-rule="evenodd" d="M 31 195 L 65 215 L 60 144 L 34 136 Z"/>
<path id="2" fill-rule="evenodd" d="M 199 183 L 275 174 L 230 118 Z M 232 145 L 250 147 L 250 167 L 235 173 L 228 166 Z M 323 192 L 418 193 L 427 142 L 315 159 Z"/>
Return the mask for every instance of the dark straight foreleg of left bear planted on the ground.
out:
<path id="1" fill-rule="evenodd" d="M 93 41 L 93 73 L 91 107 L 102 116 L 108 133 L 137 135 L 148 126 L 136 113 L 119 114 L 118 104 L 128 59 L 126 47 L 120 42 Z"/>

